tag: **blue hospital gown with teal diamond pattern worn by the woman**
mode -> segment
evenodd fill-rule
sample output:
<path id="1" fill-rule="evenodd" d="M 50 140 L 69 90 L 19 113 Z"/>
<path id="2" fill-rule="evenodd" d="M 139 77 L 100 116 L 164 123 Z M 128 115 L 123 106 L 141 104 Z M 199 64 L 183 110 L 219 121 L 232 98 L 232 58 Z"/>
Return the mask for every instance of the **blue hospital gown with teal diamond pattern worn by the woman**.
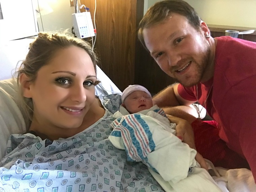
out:
<path id="1" fill-rule="evenodd" d="M 125 151 L 109 142 L 120 102 L 119 94 L 106 96 L 102 119 L 67 139 L 12 135 L 0 162 L 0 191 L 163 191 L 146 165 L 128 162 Z"/>

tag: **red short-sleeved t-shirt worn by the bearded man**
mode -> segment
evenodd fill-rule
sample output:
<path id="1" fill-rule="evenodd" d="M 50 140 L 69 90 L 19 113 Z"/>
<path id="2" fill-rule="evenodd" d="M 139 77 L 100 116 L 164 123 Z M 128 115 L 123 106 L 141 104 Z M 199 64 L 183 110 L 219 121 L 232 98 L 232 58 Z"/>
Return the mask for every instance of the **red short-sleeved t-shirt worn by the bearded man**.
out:
<path id="1" fill-rule="evenodd" d="M 218 37 L 214 78 L 198 84 L 201 105 L 218 123 L 219 136 L 244 156 L 256 180 L 256 43 Z M 196 86 L 178 86 L 182 98 L 196 101 Z"/>

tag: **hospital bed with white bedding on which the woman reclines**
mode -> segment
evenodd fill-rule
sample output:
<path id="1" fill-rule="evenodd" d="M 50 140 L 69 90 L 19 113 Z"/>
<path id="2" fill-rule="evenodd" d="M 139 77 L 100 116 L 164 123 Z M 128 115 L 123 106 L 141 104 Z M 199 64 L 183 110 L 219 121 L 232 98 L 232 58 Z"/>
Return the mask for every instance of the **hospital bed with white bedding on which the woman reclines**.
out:
<path id="1" fill-rule="evenodd" d="M 20 61 L 25 59 L 29 43 L 32 41 L 32 38 L 28 38 L 0 44 L 0 159 L 4 156 L 8 137 L 14 133 L 25 132 L 25 127 L 28 125 L 28 122 L 24 121 L 23 110 L 15 103 L 14 89 L 16 84 L 11 78 L 15 68 L 21 64 Z M 98 66 L 97 77 L 101 81 L 95 88 L 95 93 L 99 97 L 112 93 L 122 93 Z M 15 127 L 20 129 L 17 130 Z M 208 165 L 216 173 L 213 178 L 223 191 L 256 191 L 250 170 L 227 170 L 214 167 L 211 162 Z"/>

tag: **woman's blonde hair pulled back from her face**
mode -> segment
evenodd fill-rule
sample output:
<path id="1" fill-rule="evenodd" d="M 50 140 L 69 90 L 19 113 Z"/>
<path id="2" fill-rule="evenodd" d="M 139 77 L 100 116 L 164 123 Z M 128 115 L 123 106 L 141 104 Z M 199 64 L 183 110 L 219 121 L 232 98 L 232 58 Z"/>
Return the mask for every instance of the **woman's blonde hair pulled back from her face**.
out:
<path id="1" fill-rule="evenodd" d="M 47 65 L 59 49 L 67 48 L 72 45 L 84 49 L 89 54 L 95 73 L 97 73 L 96 65 L 98 64 L 98 57 L 92 50 L 91 45 L 82 39 L 61 33 L 41 32 L 38 33 L 36 39 L 30 43 L 26 59 L 15 73 L 17 75 L 17 83 L 20 92 L 19 99 L 21 101 L 19 103 L 21 107 L 24 108 L 25 115 L 30 120 L 32 120 L 33 103 L 31 98 L 27 99 L 23 97 L 22 89 L 19 86 L 21 74 L 25 74 L 30 79 L 29 81 L 34 82 L 40 68 Z"/>

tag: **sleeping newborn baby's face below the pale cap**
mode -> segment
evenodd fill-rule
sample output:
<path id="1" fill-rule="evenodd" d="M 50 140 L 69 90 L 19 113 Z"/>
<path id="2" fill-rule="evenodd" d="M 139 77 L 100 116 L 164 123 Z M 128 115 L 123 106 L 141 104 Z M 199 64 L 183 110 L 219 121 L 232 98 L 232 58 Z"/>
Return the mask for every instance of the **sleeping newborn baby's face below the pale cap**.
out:
<path id="1" fill-rule="evenodd" d="M 144 91 L 134 91 L 125 98 L 123 106 L 129 113 L 137 113 L 153 107 L 153 101 L 148 93 Z"/>

